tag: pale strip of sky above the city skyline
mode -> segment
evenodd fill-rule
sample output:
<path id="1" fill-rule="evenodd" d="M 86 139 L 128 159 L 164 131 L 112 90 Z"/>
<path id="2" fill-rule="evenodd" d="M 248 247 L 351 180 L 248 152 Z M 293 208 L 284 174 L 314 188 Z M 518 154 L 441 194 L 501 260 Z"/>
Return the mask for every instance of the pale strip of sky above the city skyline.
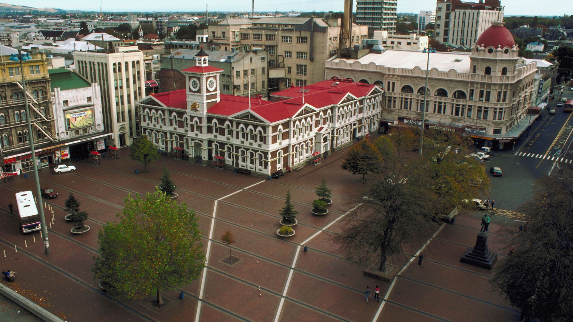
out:
<path id="1" fill-rule="evenodd" d="M 65 10 L 99 11 L 100 1 L 77 0 L 0 0 L 13 5 L 30 7 L 57 7 Z M 478 2 L 478 0 L 469 0 Z M 250 11 L 252 0 L 101 0 L 103 11 Z M 505 15 L 573 15 L 573 0 L 501 0 Z M 398 0 L 398 12 L 418 13 L 435 10 L 435 0 Z M 158 5 L 159 4 L 159 5 Z M 344 0 L 255 0 L 255 11 L 342 11 Z M 354 0 L 356 8 L 356 0 Z"/>

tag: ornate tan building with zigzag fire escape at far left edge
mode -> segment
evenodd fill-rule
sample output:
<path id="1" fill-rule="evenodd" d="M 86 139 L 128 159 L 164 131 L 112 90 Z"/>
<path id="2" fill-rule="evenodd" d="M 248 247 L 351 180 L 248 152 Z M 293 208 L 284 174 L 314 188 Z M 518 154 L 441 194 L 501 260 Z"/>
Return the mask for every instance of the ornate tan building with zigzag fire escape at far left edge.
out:
<path id="1" fill-rule="evenodd" d="M 30 138 L 34 140 L 40 167 L 56 163 L 56 133 L 50 107 L 50 77 L 44 53 L 32 53 L 20 62 L 10 60 L 18 50 L 0 45 L 0 175 L 15 175 L 33 170 Z M 13 57 L 12 57 L 13 58 Z M 26 80 L 23 91 L 22 74 Z M 26 112 L 25 97 L 29 111 Z M 28 131 L 28 118 L 32 133 Z"/>

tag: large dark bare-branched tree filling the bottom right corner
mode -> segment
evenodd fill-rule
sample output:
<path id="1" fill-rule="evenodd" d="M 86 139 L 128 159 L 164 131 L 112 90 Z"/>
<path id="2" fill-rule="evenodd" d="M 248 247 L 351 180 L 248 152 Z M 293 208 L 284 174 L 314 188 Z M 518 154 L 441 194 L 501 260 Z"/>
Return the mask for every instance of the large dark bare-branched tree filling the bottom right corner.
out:
<path id="1" fill-rule="evenodd" d="M 535 184 L 531 201 L 520 207 L 529 221 L 522 233 L 502 231 L 515 252 L 494 269 L 491 283 L 521 321 L 566 322 L 573 316 L 573 172 Z"/>

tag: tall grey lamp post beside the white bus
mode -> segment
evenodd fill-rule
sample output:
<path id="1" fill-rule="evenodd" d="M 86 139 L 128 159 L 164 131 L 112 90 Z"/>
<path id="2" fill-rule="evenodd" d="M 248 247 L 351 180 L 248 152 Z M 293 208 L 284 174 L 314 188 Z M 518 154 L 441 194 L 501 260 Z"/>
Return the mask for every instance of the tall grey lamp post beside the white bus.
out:
<path id="1" fill-rule="evenodd" d="M 29 53 L 22 53 L 18 50 L 17 54 L 11 54 L 11 61 L 20 61 L 20 74 L 22 75 L 22 88 L 24 90 L 24 104 L 26 105 L 26 119 L 28 120 L 28 140 L 30 142 L 30 151 L 32 152 L 32 163 L 34 168 L 34 181 L 36 181 L 36 195 L 38 200 L 38 210 L 40 210 L 40 225 L 42 226 L 42 239 L 44 239 L 44 254 L 50 253 L 50 244 L 48 242 L 48 227 L 46 227 L 46 218 L 44 216 L 44 207 L 42 207 L 42 193 L 40 191 L 40 176 L 38 176 L 38 163 L 36 158 L 36 151 L 34 150 L 34 136 L 32 135 L 32 115 L 30 114 L 30 107 L 28 105 L 28 91 L 26 90 L 26 80 L 24 78 L 24 68 L 22 61 L 30 60 Z"/>

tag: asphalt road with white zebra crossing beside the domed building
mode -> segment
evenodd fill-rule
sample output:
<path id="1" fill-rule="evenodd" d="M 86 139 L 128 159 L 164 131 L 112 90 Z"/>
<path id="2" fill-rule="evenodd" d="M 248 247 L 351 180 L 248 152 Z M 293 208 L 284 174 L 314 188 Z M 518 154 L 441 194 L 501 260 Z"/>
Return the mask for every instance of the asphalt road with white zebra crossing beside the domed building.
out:
<path id="1" fill-rule="evenodd" d="M 569 87 L 563 97 L 573 99 Z M 523 143 L 516 147 L 515 154 L 493 152 L 484 161 L 488 174 L 489 167 L 500 167 L 504 173 L 501 177 L 491 177 L 491 193 L 486 196 L 496 201 L 496 208 L 519 211 L 519 206 L 531 198 L 536 180 L 547 176 L 558 164 L 573 163 L 573 113 L 556 108 L 555 115 L 549 115 L 556 103 L 557 100 L 549 103 L 540 123 L 534 124 L 536 128 L 521 140 Z"/>

